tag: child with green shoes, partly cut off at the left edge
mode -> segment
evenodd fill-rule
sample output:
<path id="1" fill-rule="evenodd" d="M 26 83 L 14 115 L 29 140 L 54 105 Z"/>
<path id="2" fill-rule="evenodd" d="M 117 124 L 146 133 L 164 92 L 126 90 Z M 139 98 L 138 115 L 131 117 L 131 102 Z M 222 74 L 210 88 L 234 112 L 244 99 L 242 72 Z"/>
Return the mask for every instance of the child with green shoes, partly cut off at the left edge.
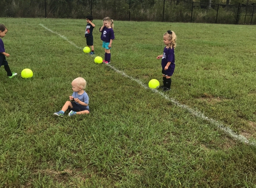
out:
<path id="1" fill-rule="evenodd" d="M 3 38 L 7 32 L 8 32 L 8 29 L 3 24 L 0 24 L 0 37 Z M 17 73 L 11 71 L 5 56 L 10 57 L 10 54 L 5 53 L 4 42 L 2 41 L 2 39 L 0 39 L 0 67 L 4 65 L 4 69 L 7 72 L 7 76 L 9 78 L 13 78 L 14 76 L 17 75 Z"/>

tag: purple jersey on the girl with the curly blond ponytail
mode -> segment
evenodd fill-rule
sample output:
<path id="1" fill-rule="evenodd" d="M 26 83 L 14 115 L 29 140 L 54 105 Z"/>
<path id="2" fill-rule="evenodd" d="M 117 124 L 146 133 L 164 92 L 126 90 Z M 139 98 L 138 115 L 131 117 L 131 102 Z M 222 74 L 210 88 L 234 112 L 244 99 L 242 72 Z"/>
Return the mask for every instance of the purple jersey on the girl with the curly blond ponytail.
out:
<path id="1" fill-rule="evenodd" d="M 168 62 L 171 62 L 167 70 L 164 70 L 164 67 Z M 175 56 L 174 49 L 164 47 L 164 53 L 162 57 L 162 73 L 168 76 L 172 76 L 175 69 Z"/>

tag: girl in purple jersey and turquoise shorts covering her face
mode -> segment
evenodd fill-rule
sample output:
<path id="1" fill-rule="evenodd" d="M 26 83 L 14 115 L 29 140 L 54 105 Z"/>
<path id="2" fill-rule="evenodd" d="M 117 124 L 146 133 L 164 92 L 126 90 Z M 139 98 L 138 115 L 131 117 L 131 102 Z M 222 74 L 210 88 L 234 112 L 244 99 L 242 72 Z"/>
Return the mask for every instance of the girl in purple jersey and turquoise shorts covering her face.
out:
<path id="1" fill-rule="evenodd" d="M 105 64 L 110 63 L 110 58 L 111 58 L 110 49 L 112 47 L 112 41 L 115 39 L 114 31 L 113 31 L 113 28 L 114 28 L 113 22 L 114 21 L 109 17 L 105 17 L 103 19 L 103 25 L 100 28 L 101 40 L 103 41 L 102 47 L 105 49 L 105 58 L 103 60 L 103 63 Z"/>

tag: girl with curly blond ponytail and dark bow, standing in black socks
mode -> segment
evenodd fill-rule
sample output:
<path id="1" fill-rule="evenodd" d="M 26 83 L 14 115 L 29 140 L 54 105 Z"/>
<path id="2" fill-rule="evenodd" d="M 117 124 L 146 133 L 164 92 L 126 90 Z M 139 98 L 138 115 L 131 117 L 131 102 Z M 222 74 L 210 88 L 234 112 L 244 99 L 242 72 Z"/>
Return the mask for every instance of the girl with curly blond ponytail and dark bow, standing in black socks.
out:
<path id="1" fill-rule="evenodd" d="M 164 47 L 164 53 L 163 55 L 156 57 L 157 59 L 162 58 L 162 74 L 164 86 L 161 86 L 160 88 L 163 88 L 163 91 L 171 90 L 171 76 L 175 69 L 174 49 L 176 48 L 176 38 L 176 34 L 171 30 L 168 30 L 166 33 L 164 33 L 164 44 L 166 45 Z"/>

